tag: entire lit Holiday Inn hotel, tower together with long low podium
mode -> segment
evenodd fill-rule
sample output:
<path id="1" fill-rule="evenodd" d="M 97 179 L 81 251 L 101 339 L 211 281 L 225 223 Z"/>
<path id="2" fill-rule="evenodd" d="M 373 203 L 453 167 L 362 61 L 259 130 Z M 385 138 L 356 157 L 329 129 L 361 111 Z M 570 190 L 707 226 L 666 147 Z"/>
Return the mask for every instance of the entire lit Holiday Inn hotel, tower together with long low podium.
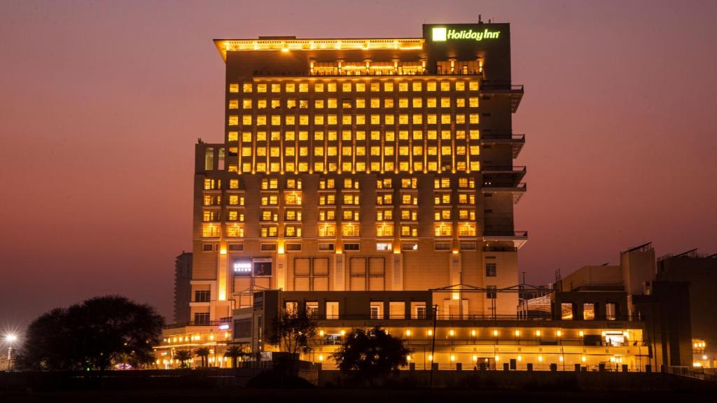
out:
<path id="1" fill-rule="evenodd" d="M 659 310 L 652 297 L 631 305 L 622 285 L 582 280 L 521 294 L 510 39 L 508 24 L 479 22 L 416 38 L 214 41 L 224 141 L 196 144 L 189 323 L 166 328 L 156 364 L 207 346 L 227 366 L 229 343 L 270 359 L 273 319 L 304 306 L 320 330 L 302 359 L 325 368 L 366 326 L 404 338 L 422 369 L 657 365 L 630 320 Z M 632 266 L 620 270 L 650 271 Z"/>

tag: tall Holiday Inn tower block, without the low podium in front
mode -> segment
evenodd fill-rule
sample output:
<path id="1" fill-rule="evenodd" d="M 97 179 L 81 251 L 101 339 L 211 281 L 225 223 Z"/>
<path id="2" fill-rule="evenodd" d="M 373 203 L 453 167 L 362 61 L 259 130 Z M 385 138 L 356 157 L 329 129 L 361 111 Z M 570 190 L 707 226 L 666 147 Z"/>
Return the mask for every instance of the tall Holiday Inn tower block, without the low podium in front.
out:
<path id="1" fill-rule="evenodd" d="M 222 143 L 196 145 L 195 323 L 255 290 L 432 290 L 447 315 L 515 315 L 509 24 L 423 37 L 219 39 Z"/>

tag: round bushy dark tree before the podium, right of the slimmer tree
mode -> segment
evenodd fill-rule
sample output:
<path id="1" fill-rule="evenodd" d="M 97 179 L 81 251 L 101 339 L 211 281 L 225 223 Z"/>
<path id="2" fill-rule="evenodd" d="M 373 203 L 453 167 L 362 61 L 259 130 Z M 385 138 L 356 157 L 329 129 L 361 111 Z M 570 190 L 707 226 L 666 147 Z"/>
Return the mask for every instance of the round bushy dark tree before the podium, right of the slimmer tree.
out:
<path id="1" fill-rule="evenodd" d="M 401 338 L 376 326 L 369 330 L 353 329 L 331 356 L 343 373 L 373 384 L 374 379 L 406 366 L 409 353 Z"/>

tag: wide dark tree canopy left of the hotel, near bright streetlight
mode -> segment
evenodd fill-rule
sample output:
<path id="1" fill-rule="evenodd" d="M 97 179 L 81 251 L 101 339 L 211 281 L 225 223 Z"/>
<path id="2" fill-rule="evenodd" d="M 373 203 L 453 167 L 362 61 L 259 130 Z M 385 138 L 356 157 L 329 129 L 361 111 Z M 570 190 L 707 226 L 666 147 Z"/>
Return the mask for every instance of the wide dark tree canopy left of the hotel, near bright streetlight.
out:
<path id="1" fill-rule="evenodd" d="M 164 319 L 155 308 L 119 295 L 90 298 L 42 314 L 27 328 L 16 363 L 24 369 L 108 369 L 154 361 Z"/>

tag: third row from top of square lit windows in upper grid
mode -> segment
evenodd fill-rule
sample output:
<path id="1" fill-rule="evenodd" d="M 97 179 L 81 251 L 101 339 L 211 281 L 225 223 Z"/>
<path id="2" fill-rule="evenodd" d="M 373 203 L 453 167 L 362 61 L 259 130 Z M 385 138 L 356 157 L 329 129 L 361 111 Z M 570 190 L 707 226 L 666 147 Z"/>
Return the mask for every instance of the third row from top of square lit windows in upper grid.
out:
<path id="1" fill-rule="evenodd" d="M 439 118 L 440 117 L 440 118 Z M 256 120 L 254 120 L 254 117 L 252 115 L 242 115 L 242 125 L 281 125 L 281 118 L 282 115 L 257 115 Z M 383 118 L 383 119 L 381 119 Z M 383 120 L 383 121 L 381 121 Z M 313 117 L 313 124 L 314 125 L 338 125 L 338 115 L 336 114 L 326 114 L 326 115 L 314 115 Z M 478 124 L 480 123 L 480 115 L 478 113 L 469 113 L 467 114 L 467 119 L 465 114 L 451 114 L 451 113 L 442 113 L 440 115 L 437 115 L 436 113 L 429 113 L 427 115 L 421 114 L 421 113 L 414 113 L 412 115 L 409 115 L 407 113 L 400 113 L 398 115 L 398 124 L 399 125 L 407 125 L 409 123 L 413 123 L 414 125 L 421 125 L 423 123 L 427 123 L 429 125 L 435 125 L 437 123 L 440 123 L 442 125 L 450 125 L 451 123 L 455 124 L 465 124 L 471 123 L 471 124 Z M 298 119 L 296 115 L 285 115 L 284 116 L 284 124 L 285 125 L 295 125 L 298 123 L 299 125 L 308 125 L 309 124 L 309 115 L 299 115 Z M 347 115 L 343 114 L 341 115 L 341 124 L 342 125 L 380 125 L 381 123 L 384 123 L 386 125 L 393 125 L 397 123 L 396 116 L 395 115 L 369 115 L 369 119 L 366 120 L 366 115 L 364 114 L 357 114 L 357 115 Z M 239 125 L 239 115 L 229 115 L 229 126 L 236 126 Z"/>

